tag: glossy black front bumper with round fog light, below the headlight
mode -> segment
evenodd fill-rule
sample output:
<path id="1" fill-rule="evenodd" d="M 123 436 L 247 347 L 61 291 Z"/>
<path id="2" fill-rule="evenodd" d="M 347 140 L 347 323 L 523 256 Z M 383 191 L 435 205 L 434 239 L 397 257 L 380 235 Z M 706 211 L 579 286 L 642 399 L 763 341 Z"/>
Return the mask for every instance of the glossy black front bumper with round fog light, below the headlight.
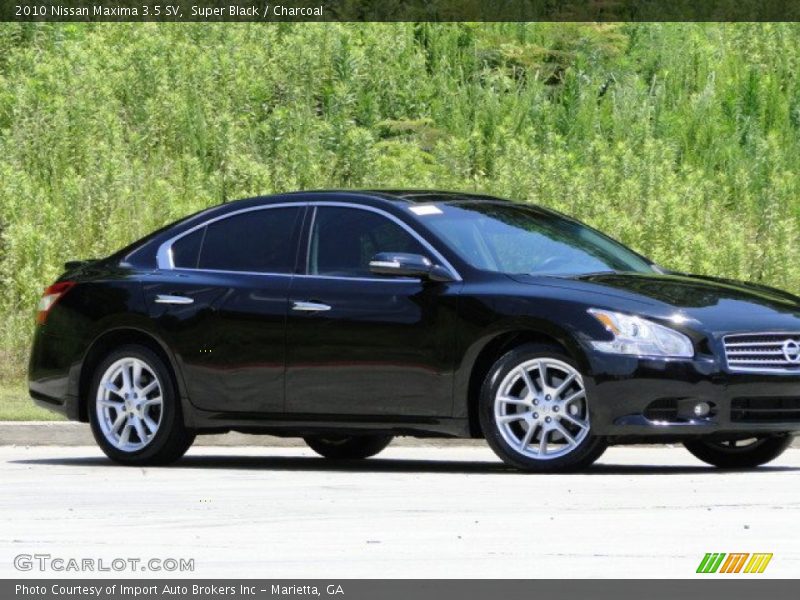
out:
<path id="1" fill-rule="evenodd" d="M 598 435 L 663 439 L 800 432 L 800 374 L 732 373 L 711 356 L 647 359 L 592 352 L 589 362 L 586 387 Z M 698 403 L 711 412 L 695 416 L 691 407 Z"/>

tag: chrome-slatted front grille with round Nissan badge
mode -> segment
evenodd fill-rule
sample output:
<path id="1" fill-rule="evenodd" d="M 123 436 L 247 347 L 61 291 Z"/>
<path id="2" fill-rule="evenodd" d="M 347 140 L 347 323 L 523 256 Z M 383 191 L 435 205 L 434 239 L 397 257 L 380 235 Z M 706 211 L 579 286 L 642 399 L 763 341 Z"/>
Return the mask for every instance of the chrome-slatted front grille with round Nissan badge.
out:
<path id="1" fill-rule="evenodd" d="M 723 343 L 731 371 L 800 373 L 800 333 L 737 333 Z"/>

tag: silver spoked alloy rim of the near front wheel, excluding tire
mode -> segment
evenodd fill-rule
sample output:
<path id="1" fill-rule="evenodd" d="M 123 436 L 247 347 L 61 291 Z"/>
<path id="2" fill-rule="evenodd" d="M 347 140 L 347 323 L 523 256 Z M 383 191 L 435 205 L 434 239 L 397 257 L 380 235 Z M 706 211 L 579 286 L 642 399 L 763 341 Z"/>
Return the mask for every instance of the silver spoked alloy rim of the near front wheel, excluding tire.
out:
<path id="1" fill-rule="evenodd" d="M 583 378 L 560 360 L 528 360 L 497 388 L 494 418 L 500 435 L 517 453 L 537 460 L 565 456 L 589 434 Z"/>

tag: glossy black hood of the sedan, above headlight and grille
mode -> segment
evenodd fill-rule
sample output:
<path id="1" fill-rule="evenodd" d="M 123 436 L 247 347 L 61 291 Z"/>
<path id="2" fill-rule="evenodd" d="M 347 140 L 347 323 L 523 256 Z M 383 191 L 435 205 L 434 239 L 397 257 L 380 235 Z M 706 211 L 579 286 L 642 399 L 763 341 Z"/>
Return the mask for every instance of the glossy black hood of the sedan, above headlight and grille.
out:
<path id="1" fill-rule="evenodd" d="M 681 314 L 718 333 L 800 331 L 800 298 L 757 284 L 697 275 L 639 273 L 525 275 L 514 279 L 594 293 L 605 308 L 659 317 Z"/>

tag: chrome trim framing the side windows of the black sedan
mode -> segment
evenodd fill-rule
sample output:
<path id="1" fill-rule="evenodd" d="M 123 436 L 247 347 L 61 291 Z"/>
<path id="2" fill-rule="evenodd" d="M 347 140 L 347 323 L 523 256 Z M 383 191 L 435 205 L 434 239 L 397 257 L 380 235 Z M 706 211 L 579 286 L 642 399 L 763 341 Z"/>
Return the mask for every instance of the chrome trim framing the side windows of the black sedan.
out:
<path id="1" fill-rule="evenodd" d="M 202 223 L 198 223 L 197 225 L 187 229 L 184 232 L 179 233 L 178 235 L 169 238 L 168 240 L 162 242 L 162 244 L 158 247 L 158 251 L 156 252 L 156 264 L 158 265 L 159 269 L 167 270 L 167 271 L 180 271 L 180 272 L 190 272 L 190 273 L 222 273 L 222 274 L 231 274 L 231 275 L 271 275 L 277 277 L 302 277 L 306 279 L 335 279 L 335 280 L 344 280 L 344 281 L 395 281 L 395 282 L 408 282 L 414 283 L 418 281 L 416 278 L 408 278 L 408 279 L 389 279 L 386 277 L 345 277 L 340 275 L 311 275 L 308 273 L 308 258 L 310 256 L 309 249 L 311 244 L 311 231 L 314 226 L 314 222 L 316 220 L 316 208 L 319 206 L 337 206 L 343 208 L 354 208 L 357 210 L 365 210 L 368 212 L 373 212 L 379 215 L 382 215 L 388 218 L 390 221 L 393 221 L 401 228 L 403 228 L 407 233 L 409 233 L 414 239 L 416 239 L 424 248 L 426 248 L 431 254 L 435 257 L 435 259 L 439 262 L 439 264 L 445 267 L 450 274 L 453 276 L 454 281 L 463 281 L 461 274 L 453 267 L 452 264 L 444 257 L 442 254 L 434 248 L 427 240 L 425 240 L 417 231 L 414 230 L 413 227 L 396 217 L 395 215 L 386 212 L 383 209 L 376 208 L 374 206 L 365 206 L 362 204 L 354 204 L 351 202 L 336 202 L 336 201 L 325 201 L 325 200 L 318 200 L 318 201 L 308 201 L 308 202 L 281 202 L 278 204 L 268 204 L 268 205 L 260 205 L 260 206 L 250 206 L 248 208 L 242 208 L 240 210 L 236 210 L 230 213 L 225 213 L 224 215 L 219 215 L 216 217 L 212 217 Z M 308 208 L 314 207 L 314 214 L 311 217 L 311 225 L 308 229 L 308 245 L 309 247 L 306 248 L 306 264 L 304 265 L 305 273 L 272 273 L 268 271 L 229 271 L 225 269 L 192 269 L 187 267 L 176 267 L 175 263 L 173 262 L 172 258 L 172 245 L 180 240 L 181 238 L 190 235 L 197 231 L 198 229 L 202 229 L 212 223 L 216 223 L 217 221 L 222 221 L 224 219 L 234 217 L 243 213 L 254 212 L 257 210 L 270 210 L 273 208 Z"/>

